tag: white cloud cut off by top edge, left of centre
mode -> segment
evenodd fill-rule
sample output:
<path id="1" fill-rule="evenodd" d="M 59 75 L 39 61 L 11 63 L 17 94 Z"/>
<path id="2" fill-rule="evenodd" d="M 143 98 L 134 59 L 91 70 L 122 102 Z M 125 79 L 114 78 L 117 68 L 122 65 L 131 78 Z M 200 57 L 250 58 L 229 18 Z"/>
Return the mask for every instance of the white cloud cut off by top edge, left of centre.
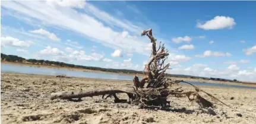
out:
<path id="1" fill-rule="evenodd" d="M 46 3 L 51 7 L 84 8 L 86 5 L 86 2 L 81 0 L 46 0 Z"/>

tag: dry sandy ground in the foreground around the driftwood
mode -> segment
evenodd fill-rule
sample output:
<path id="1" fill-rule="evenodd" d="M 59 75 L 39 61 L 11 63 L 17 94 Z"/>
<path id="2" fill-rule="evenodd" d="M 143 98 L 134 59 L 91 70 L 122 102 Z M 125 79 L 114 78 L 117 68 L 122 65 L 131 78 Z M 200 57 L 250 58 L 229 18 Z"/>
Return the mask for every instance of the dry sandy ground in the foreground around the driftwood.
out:
<path id="1" fill-rule="evenodd" d="M 210 115 L 187 98 L 169 98 L 170 110 L 138 109 L 128 103 L 113 103 L 113 98 L 87 97 L 80 102 L 50 100 L 50 94 L 59 91 L 130 85 L 131 81 L 1 73 L 1 123 L 256 123 L 256 118 L 244 113 L 240 117 L 238 112 L 218 104 L 214 107 L 217 115 Z M 182 87 L 192 90 L 189 85 Z M 255 89 L 200 88 L 239 111 L 256 116 Z M 125 94 L 119 97 L 127 98 Z"/>

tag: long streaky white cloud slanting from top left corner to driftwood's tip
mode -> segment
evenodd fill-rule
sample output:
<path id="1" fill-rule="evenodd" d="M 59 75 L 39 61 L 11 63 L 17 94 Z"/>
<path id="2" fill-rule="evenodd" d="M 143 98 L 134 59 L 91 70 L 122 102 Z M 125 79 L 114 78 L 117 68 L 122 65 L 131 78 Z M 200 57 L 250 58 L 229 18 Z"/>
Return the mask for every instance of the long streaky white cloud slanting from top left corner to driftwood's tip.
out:
<path id="1" fill-rule="evenodd" d="M 30 18 L 34 24 L 72 31 L 72 33 L 81 34 L 82 37 L 112 49 L 150 55 L 150 51 L 145 50 L 145 46 L 149 43 L 147 37 L 138 37 L 144 28 L 135 26 L 127 20 L 119 20 L 110 14 L 105 15 L 104 11 L 100 11 L 90 4 L 87 4 L 84 9 L 84 11 L 88 10 L 90 14 L 70 7 L 50 7 L 45 1 L 2 1 L 1 7 L 20 14 L 19 17 L 14 16 L 20 20 Z M 40 11 L 34 11 L 36 9 Z M 116 31 L 102 21 L 108 22 L 110 27 L 116 26 L 129 31 L 128 36 L 123 37 L 122 31 Z M 134 33 L 136 33 L 135 36 Z"/>

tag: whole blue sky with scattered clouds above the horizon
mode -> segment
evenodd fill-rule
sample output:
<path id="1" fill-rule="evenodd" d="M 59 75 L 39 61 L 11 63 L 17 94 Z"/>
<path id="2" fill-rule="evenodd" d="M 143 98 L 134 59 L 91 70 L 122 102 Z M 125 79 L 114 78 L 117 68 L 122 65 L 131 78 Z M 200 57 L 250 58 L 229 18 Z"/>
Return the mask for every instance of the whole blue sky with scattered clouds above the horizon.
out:
<path id="1" fill-rule="evenodd" d="M 255 1 L 1 1 L 1 53 L 143 70 L 153 29 L 170 74 L 256 81 Z M 158 44 L 157 44 L 158 45 Z"/>

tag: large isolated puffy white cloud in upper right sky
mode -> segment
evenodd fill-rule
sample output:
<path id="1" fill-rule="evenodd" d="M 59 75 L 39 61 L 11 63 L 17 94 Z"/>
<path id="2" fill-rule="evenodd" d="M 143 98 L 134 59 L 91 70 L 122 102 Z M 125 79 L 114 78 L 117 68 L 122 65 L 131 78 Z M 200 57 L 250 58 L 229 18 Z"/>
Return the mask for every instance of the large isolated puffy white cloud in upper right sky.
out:
<path id="1" fill-rule="evenodd" d="M 216 16 L 212 20 L 206 21 L 206 23 L 197 23 L 197 27 L 204 30 L 231 29 L 235 25 L 236 23 L 233 18 L 225 16 Z"/>

